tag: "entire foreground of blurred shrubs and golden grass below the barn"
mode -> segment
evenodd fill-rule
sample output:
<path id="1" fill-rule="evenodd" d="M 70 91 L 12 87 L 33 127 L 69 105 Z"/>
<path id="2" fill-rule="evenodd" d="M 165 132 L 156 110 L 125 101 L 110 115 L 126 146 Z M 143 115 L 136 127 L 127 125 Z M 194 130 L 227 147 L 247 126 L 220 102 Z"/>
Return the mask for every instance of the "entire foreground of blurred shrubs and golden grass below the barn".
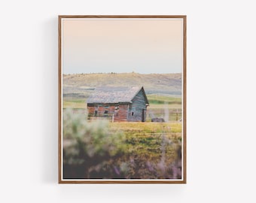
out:
<path id="1" fill-rule="evenodd" d="M 63 114 L 64 179 L 179 179 L 181 123 L 88 121 Z"/>

